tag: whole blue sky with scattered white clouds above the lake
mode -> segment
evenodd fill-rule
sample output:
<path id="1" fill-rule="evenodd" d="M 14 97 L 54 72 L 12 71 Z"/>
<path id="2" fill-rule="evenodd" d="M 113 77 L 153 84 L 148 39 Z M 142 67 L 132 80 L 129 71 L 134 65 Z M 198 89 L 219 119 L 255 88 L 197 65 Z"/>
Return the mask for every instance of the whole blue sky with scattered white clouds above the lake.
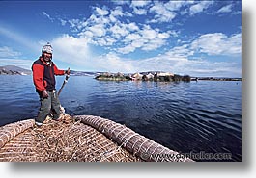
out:
<path id="1" fill-rule="evenodd" d="M 242 77 L 242 2 L 0 1 L 0 65 Z"/>

